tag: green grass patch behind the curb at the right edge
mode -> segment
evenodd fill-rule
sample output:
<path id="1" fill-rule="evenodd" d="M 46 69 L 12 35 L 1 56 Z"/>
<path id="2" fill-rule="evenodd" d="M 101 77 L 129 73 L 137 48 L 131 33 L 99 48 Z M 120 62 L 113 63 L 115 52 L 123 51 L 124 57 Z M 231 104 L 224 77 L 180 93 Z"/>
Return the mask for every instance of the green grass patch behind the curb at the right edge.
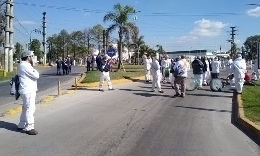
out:
<path id="1" fill-rule="evenodd" d="M 243 86 L 241 96 L 244 106 L 245 117 L 253 122 L 260 122 L 260 81 L 257 86 Z"/>

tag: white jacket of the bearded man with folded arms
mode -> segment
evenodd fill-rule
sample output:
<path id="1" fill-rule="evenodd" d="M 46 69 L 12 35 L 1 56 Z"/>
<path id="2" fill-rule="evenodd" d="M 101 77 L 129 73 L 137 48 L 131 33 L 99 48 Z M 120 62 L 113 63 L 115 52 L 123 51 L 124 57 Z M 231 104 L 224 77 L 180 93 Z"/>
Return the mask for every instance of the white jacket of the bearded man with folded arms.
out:
<path id="1" fill-rule="evenodd" d="M 31 63 L 22 61 L 17 67 L 17 75 L 19 77 L 19 93 L 28 94 L 37 91 L 37 80 L 40 74 L 33 69 Z"/>

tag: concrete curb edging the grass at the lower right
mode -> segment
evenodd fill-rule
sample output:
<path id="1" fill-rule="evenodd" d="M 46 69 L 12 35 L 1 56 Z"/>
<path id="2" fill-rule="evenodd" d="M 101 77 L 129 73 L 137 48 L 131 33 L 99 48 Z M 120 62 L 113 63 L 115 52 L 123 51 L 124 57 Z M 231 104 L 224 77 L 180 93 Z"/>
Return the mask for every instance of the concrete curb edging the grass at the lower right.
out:
<path id="1" fill-rule="evenodd" d="M 241 99 L 241 95 L 236 95 L 236 103 L 238 107 L 238 117 L 236 123 L 238 126 L 240 126 L 243 130 L 248 132 L 250 135 L 253 135 L 254 139 L 258 140 L 260 142 L 260 126 L 255 124 L 254 122 L 248 120 L 244 116 L 244 107 L 243 107 L 243 101 Z"/>

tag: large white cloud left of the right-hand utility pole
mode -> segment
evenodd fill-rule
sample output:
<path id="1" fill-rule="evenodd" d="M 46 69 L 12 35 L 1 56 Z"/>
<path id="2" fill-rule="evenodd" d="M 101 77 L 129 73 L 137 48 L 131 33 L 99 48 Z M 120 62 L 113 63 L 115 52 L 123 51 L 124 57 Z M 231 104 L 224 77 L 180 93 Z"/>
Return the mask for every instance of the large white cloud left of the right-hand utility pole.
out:
<path id="1" fill-rule="evenodd" d="M 205 19 L 195 21 L 194 24 L 195 26 L 188 36 L 182 36 L 180 38 L 177 38 L 178 43 L 187 42 L 189 40 L 195 40 L 201 36 L 206 36 L 206 37 L 218 36 L 222 33 L 223 28 L 229 25 L 228 23 L 224 24 L 220 21 L 205 20 Z"/>

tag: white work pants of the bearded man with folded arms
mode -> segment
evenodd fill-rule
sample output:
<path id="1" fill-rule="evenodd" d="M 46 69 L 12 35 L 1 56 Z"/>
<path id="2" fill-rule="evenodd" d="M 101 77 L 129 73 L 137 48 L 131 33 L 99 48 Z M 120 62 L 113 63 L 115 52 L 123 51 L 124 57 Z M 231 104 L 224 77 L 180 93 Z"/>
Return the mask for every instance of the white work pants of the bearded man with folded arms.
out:
<path id="1" fill-rule="evenodd" d="M 36 92 L 21 94 L 22 97 L 22 113 L 20 117 L 20 122 L 17 125 L 18 128 L 25 128 L 26 131 L 34 129 L 34 117 L 35 112 L 35 98 Z"/>

